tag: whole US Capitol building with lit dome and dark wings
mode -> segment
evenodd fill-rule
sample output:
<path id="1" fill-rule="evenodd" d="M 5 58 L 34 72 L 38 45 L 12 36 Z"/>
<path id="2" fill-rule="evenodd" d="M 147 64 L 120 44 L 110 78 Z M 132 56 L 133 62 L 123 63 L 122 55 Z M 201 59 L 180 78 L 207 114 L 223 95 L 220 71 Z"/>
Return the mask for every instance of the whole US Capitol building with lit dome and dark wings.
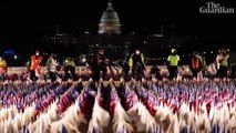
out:
<path id="1" fill-rule="evenodd" d="M 195 43 L 193 38 L 171 38 L 167 34 L 143 34 L 137 35 L 135 31 L 122 33 L 122 20 L 113 8 L 111 1 L 103 11 L 99 23 L 98 34 L 91 34 L 85 31 L 84 34 L 74 37 L 69 33 L 59 33 L 45 35 L 42 48 L 57 48 L 59 53 L 71 57 L 80 54 L 92 55 L 99 48 L 105 50 L 105 55 L 110 59 L 124 59 L 133 52 L 135 47 L 141 47 L 147 58 L 167 57 L 171 48 L 185 45 L 187 49 L 194 49 L 188 43 Z M 158 25 L 157 25 L 158 27 Z M 165 30 L 164 30 L 165 31 Z M 157 31 L 158 32 L 158 31 Z M 75 53 L 75 54 L 74 54 Z M 165 59 L 161 59 L 165 60 Z"/>

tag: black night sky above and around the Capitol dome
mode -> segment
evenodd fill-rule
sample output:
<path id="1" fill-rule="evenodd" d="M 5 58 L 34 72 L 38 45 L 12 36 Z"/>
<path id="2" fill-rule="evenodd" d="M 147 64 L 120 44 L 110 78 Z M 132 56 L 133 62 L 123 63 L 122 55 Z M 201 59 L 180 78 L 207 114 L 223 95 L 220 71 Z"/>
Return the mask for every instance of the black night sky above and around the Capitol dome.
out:
<path id="1" fill-rule="evenodd" d="M 0 44 L 3 48 L 27 48 L 42 43 L 42 37 L 55 32 L 75 35 L 85 30 L 95 34 L 107 0 L 58 1 L 2 1 L 0 2 Z M 140 34 L 160 33 L 174 25 L 176 35 L 195 35 L 203 43 L 236 43 L 234 14 L 202 14 L 201 0 L 113 0 L 124 34 L 135 31 Z M 220 0 L 224 7 L 235 8 L 235 0 Z M 6 47 L 7 45 L 7 47 Z M 2 47 L 0 47 L 1 49 Z M 2 50 L 1 50 L 2 51 Z"/>

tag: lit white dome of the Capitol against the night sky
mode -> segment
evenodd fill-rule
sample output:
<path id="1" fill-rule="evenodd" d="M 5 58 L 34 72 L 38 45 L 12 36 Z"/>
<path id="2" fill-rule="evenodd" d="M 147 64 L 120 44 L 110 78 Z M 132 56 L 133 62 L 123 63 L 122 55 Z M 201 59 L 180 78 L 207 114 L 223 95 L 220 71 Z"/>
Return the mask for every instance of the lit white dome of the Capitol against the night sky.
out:
<path id="1" fill-rule="evenodd" d="M 107 9 L 103 12 L 99 24 L 99 33 L 121 33 L 120 19 L 116 11 L 112 8 L 112 2 L 107 3 Z"/>

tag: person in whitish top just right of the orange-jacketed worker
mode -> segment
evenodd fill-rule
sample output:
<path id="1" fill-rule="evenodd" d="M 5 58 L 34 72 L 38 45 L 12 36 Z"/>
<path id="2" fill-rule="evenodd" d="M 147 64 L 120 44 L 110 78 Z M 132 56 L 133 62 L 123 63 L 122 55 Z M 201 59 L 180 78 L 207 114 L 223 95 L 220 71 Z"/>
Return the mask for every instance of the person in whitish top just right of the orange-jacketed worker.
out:
<path id="1" fill-rule="evenodd" d="M 48 74 L 52 82 L 57 80 L 57 66 L 59 65 L 55 58 L 57 54 L 52 53 L 47 61 Z"/>

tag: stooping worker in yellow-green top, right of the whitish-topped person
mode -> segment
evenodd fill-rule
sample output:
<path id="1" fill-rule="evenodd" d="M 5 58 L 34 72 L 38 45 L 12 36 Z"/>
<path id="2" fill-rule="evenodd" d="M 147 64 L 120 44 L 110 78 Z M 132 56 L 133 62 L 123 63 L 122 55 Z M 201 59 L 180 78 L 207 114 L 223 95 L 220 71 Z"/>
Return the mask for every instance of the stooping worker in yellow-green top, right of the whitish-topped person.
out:
<path id="1" fill-rule="evenodd" d="M 74 63 L 74 59 L 72 58 L 66 58 L 63 62 L 63 66 L 64 66 L 64 72 L 65 72 L 65 80 L 68 79 L 72 79 L 75 80 L 76 75 L 75 75 L 75 63 Z"/>

